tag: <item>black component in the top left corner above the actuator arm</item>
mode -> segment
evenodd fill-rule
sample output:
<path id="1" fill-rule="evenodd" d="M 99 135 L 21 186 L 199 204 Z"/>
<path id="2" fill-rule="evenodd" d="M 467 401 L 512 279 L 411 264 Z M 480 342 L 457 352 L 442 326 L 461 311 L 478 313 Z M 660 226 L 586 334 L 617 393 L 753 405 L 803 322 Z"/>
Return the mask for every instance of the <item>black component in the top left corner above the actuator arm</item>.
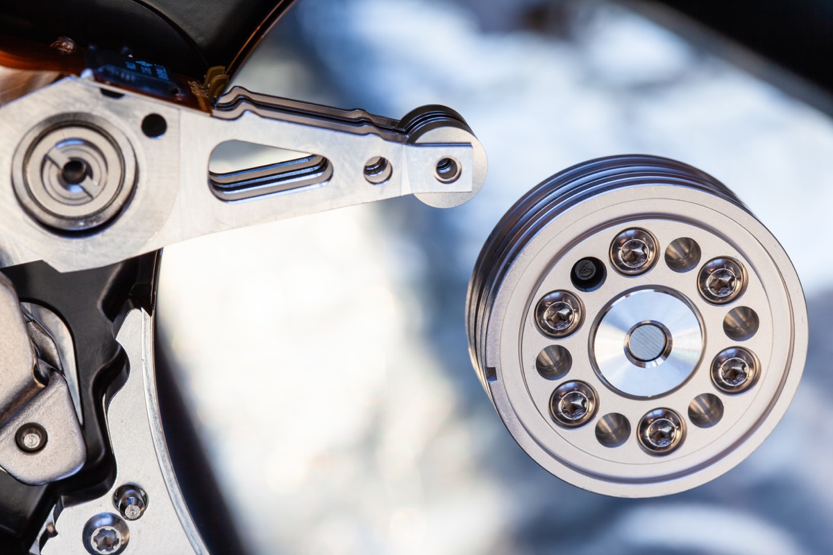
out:
<path id="1" fill-rule="evenodd" d="M 0 32 L 51 44 L 131 52 L 137 59 L 202 77 L 239 66 L 294 0 L 26 0 L 4 2 Z"/>

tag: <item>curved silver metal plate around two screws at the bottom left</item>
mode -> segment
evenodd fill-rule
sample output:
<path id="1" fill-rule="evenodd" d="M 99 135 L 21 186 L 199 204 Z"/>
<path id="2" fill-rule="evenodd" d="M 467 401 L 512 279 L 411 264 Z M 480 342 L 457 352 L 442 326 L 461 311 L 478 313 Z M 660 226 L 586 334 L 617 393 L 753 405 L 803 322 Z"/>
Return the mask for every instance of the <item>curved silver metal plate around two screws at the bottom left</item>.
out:
<path id="1" fill-rule="evenodd" d="M 160 555 L 207 553 L 182 499 L 167 454 L 156 399 L 152 317 L 143 310 L 132 310 L 117 339 L 127 353 L 129 374 L 122 388 L 105 401 L 108 433 L 116 458 L 114 485 L 91 501 L 73 505 L 65 504 L 67 500 L 59 503 L 54 512 L 57 535 L 47 538 L 42 553 L 89 553 L 81 533 L 82 530 L 92 533 L 89 523 L 99 522 L 101 515 L 124 523 L 121 517 L 112 514 L 123 484 L 140 484 L 147 495 L 142 518 L 129 524 L 130 538 L 136 545 L 128 549 Z"/>

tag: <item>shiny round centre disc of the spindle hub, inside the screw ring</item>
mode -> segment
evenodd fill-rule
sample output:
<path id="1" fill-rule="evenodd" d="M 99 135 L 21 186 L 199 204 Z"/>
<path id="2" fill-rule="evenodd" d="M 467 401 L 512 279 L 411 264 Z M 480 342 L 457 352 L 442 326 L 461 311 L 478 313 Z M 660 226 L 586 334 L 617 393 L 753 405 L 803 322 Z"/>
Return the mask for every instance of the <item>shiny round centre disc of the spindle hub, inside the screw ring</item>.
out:
<path id="1" fill-rule="evenodd" d="M 703 352 L 695 310 L 671 290 L 626 291 L 601 311 L 591 334 L 591 363 L 623 394 L 656 397 L 673 391 L 695 371 Z M 635 342 L 634 334 L 636 339 L 651 334 L 651 344 Z"/>

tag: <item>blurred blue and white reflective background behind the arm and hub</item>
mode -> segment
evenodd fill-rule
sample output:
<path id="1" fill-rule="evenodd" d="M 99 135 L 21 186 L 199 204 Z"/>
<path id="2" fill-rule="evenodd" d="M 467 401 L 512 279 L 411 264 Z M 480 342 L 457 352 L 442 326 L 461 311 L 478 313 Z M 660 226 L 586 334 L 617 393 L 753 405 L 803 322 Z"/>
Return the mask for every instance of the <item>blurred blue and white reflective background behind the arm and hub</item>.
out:
<path id="1" fill-rule="evenodd" d="M 249 552 L 833 553 L 833 263 L 819 248 L 833 124 L 654 21 L 595 1 L 302 0 L 258 47 L 237 78 L 254 91 L 460 111 L 489 176 L 447 211 L 404 198 L 165 250 L 160 325 Z M 772 230 L 811 344 L 791 409 L 746 462 L 625 500 L 517 447 L 463 321 L 476 255 L 514 201 L 636 152 L 711 173 Z"/>

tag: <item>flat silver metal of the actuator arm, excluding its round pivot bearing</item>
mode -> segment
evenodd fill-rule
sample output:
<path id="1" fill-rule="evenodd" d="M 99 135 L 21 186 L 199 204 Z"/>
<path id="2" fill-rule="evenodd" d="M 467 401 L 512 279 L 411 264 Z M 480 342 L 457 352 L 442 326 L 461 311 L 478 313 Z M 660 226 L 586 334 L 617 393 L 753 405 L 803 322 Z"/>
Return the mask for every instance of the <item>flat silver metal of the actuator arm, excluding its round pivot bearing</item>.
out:
<path id="1" fill-rule="evenodd" d="M 13 176 L 17 187 L 17 194 L 12 187 L 0 188 L 0 203 L 9 207 L 0 220 L 0 267 L 45 260 L 57 270 L 82 270 L 197 235 L 403 195 L 416 195 L 431 206 L 457 206 L 474 196 L 486 177 L 482 146 L 446 108 L 421 109 L 396 121 L 234 88 L 207 114 L 124 91 L 119 91 L 121 97 L 106 96 L 105 88 L 67 78 L 0 107 L 0 175 Z M 150 114 L 166 121 L 161 136 L 142 131 Z M 126 185 L 131 182 L 127 173 L 132 152 L 136 177 L 132 196 L 116 216 L 107 221 L 102 216 L 95 233 L 67 236 L 47 227 L 60 227 L 61 222 L 33 218 L 31 214 L 45 215 L 37 207 L 12 207 L 34 203 L 21 188 L 26 183 L 25 153 L 40 144 L 37 137 L 43 130 L 72 121 L 103 131 L 122 145 Z M 232 183 L 246 198 L 221 200 L 209 184 L 207 167 L 212 151 L 226 141 L 312 153 L 328 161 L 332 176 L 288 189 L 258 188 L 241 177 Z M 22 154 L 15 156 L 18 145 Z M 375 157 L 385 158 L 392 168 L 381 184 L 368 183 L 365 177 L 365 165 Z M 435 176 L 437 164 L 446 158 L 455 160 L 460 171 L 450 182 Z M 282 177 L 281 171 L 273 176 Z M 124 186 L 121 191 L 126 190 Z M 117 198 L 110 206 L 118 205 Z M 82 206 L 72 210 L 81 211 Z M 62 205 L 61 210 L 70 208 Z"/>

